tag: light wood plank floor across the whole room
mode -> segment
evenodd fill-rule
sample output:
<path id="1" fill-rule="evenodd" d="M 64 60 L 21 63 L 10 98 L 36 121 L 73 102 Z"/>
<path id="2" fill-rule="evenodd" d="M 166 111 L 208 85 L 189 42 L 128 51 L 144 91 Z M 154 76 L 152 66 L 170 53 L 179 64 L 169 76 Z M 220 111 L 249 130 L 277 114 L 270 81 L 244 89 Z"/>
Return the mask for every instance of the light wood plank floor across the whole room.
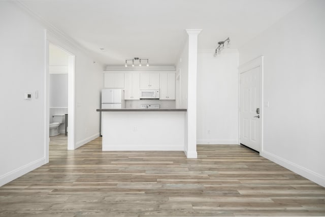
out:
<path id="1" fill-rule="evenodd" d="M 325 215 L 325 188 L 238 145 L 102 152 L 101 138 L 67 150 L 0 188 L 0 216 Z"/>

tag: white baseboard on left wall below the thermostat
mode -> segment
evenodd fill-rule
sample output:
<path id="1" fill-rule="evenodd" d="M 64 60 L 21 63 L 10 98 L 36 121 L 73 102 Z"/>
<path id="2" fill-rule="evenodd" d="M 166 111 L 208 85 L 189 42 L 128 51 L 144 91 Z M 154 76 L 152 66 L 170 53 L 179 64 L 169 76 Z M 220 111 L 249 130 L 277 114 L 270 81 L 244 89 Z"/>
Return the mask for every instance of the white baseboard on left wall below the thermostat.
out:
<path id="1" fill-rule="evenodd" d="M 0 176 L 0 187 L 4 184 L 7 184 L 8 182 L 32 171 L 35 170 L 36 168 L 46 164 L 45 157 L 40 158 L 36 161 L 33 161 L 29 164 L 26 164 L 22 167 L 19 167 L 13 171 L 10 171 L 2 176 Z"/>

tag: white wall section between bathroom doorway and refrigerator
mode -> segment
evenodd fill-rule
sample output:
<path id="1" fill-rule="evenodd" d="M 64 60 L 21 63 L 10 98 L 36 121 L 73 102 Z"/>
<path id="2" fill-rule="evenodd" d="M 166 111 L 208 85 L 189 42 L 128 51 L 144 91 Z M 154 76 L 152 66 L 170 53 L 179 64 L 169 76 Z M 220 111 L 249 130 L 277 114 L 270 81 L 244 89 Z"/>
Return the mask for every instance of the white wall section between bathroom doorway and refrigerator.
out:
<path id="1" fill-rule="evenodd" d="M 100 134 L 103 66 L 77 50 L 75 58 L 75 141 L 81 146 Z"/>

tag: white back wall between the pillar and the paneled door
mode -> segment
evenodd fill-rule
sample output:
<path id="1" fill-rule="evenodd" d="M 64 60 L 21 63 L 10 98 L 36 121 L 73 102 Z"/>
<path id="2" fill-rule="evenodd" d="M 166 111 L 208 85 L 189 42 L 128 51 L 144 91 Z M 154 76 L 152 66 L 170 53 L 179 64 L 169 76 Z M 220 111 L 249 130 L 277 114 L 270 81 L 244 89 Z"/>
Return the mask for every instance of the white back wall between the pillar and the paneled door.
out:
<path id="1" fill-rule="evenodd" d="M 238 144 L 238 51 L 198 53 L 198 144 Z"/>

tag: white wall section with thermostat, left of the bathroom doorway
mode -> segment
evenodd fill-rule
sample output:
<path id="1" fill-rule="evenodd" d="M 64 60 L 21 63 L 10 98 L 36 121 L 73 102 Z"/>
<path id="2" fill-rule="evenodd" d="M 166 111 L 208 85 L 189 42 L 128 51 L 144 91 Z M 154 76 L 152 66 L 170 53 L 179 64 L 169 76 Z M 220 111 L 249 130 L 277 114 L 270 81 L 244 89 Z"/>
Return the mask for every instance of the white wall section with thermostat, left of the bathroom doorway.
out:
<path id="1" fill-rule="evenodd" d="M 44 28 L 0 2 L 0 185 L 45 163 Z M 38 99 L 35 91 L 39 92 Z M 24 100 L 25 92 L 32 94 Z M 4 124 L 5 123 L 5 124 Z"/>

